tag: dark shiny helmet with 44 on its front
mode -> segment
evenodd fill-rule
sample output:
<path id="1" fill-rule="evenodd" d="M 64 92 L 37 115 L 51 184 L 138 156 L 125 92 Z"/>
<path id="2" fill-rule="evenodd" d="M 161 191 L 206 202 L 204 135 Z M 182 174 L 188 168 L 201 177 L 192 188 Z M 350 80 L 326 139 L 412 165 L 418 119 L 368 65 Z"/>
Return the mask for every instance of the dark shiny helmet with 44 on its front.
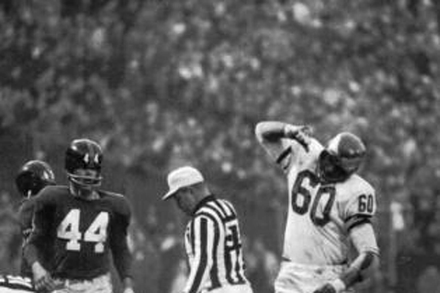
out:
<path id="1" fill-rule="evenodd" d="M 103 152 L 95 141 L 75 139 L 66 150 L 65 169 L 69 180 L 81 187 L 101 184 Z"/>

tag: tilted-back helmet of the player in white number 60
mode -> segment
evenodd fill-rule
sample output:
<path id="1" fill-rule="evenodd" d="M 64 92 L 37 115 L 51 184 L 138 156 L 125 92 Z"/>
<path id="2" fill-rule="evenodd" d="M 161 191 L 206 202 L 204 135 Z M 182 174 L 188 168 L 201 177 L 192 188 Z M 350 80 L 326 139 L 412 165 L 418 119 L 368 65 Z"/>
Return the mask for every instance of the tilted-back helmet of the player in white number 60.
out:
<path id="1" fill-rule="evenodd" d="M 330 139 L 318 159 L 318 176 L 324 182 L 342 182 L 355 173 L 366 148 L 356 135 L 342 132 Z"/>

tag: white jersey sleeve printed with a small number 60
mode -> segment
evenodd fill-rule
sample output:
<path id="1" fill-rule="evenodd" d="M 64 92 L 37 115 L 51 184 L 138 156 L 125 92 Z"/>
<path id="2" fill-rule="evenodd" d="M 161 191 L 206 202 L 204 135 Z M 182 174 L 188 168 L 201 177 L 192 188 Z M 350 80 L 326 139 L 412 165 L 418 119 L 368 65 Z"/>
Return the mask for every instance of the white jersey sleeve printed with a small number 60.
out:
<path id="1" fill-rule="evenodd" d="M 371 223 L 371 218 L 377 210 L 374 189 L 368 184 L 360 185 L 360 188 L 354 188 L 352 194 L 348 195 L 342 209 L 341 216 L 347 231 L 360 224 Z"/>

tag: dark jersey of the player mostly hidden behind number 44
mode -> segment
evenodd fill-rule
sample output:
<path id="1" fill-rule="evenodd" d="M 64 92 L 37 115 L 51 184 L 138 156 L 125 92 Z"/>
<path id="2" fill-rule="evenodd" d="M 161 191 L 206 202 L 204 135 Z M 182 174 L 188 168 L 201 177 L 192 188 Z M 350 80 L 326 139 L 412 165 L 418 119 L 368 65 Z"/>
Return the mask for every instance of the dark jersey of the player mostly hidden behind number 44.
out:
<path id="1" fill-rule="evenodd" d="M 19 218 L 20 218 L 20 226 L 22 230 L 22 239 L 23 246 L 29 239 L 30 232 L 32 231 L 32 216 L 33 216 L 33 206 L 34 206 L 34 198 L 24 199 L 20 204 L 20 208 L 18 210 Z M 50 257 L 51 257 L 51 246 L 47 245 L 48 241 L 42 239 L 42 242 L 45 245 L 41 246 L 41 251 L 39 255 L 40 263 L 44 268 L 51 271 Z M 20 268 L 20 273 L 25 277 L 32 277 L 32 269 L 30 265 L 27 263 L 26 259 L 22 257 L 22 263 Z"/>

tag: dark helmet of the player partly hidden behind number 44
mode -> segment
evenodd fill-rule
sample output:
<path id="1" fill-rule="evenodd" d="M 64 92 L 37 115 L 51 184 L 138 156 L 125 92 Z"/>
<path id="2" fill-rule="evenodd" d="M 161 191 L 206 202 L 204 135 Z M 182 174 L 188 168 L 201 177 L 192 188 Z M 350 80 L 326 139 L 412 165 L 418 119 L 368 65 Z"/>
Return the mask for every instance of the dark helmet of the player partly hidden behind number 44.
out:
<path id="1" fill-rule="evenodd" d="M 32 160 L 20 168 L 15 177 L 15 185 L 22 196 L 30 197 L 46 185 L 55 185 L 55 175 L 48 163 Z"/>

